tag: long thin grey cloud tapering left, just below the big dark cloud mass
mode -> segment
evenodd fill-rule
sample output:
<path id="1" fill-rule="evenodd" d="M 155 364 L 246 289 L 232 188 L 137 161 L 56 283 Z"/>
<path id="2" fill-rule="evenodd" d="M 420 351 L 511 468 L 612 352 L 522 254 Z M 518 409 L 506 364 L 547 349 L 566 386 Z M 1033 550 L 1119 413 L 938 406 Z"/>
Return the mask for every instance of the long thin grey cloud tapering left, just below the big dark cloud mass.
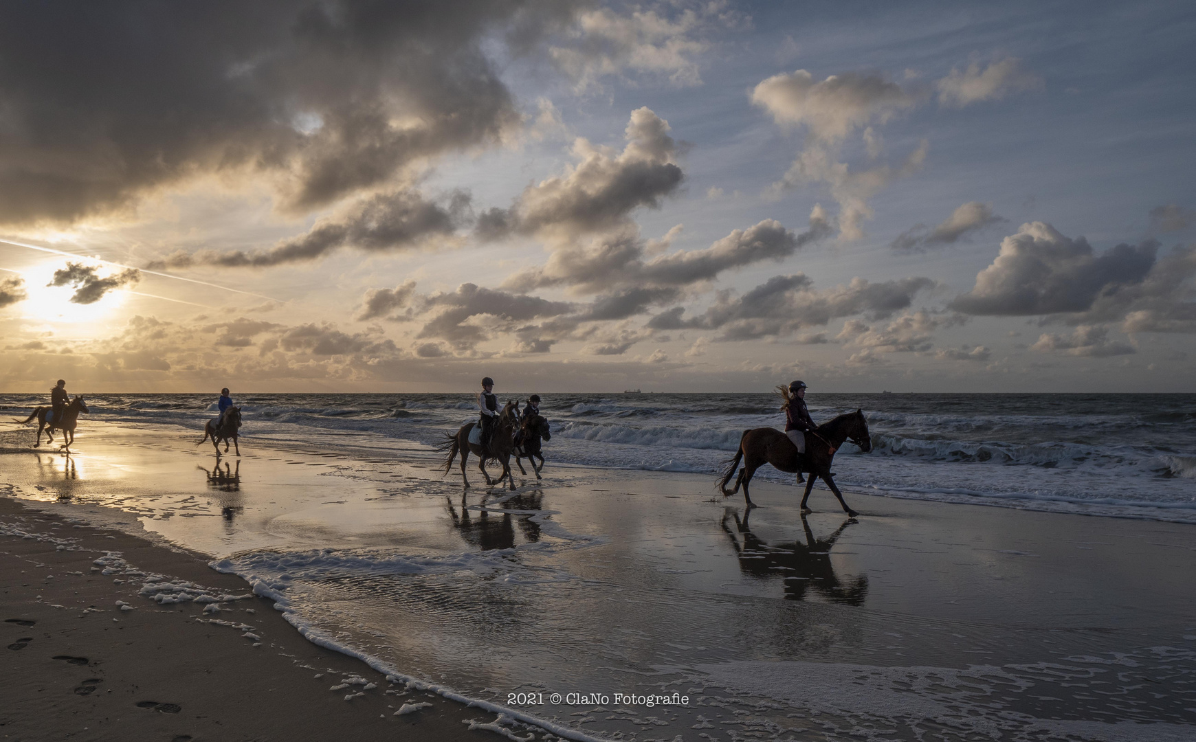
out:
<path id="1" fill-rule="evenodd" d="M 195 264 L 222 268 L 267 268 L 313 260 L 340 247 L 385 252 L 417 247 L 433 238 L 447 238 L 464 219 L 469 196 L 458 191 L 438 204 L 415 191 L 378 194 L 354 206 L 347 214 L 322 219 L 306 233 L 281 240 L 266 252 L 176 252 L 146 268 L 190 268 Z"/>

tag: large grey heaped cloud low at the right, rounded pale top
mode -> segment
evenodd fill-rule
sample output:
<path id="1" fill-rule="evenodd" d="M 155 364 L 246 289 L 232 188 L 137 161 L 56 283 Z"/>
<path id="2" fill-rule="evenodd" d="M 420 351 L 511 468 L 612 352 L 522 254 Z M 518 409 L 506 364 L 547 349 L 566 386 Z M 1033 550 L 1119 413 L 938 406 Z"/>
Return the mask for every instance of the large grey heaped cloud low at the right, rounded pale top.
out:
<path id="1" fill-rule="evenodd" d="M 1070 239 L 1039 221 L 1021 225 L 976 275 L 975 288 L 948 306 L 986 315 L 1085 312 L 1099 298 L 1140 283 L 1154 265 L 1157 247 L 1153 240 L 1122 244 L 1098 256 L 1082 237 Z"/>

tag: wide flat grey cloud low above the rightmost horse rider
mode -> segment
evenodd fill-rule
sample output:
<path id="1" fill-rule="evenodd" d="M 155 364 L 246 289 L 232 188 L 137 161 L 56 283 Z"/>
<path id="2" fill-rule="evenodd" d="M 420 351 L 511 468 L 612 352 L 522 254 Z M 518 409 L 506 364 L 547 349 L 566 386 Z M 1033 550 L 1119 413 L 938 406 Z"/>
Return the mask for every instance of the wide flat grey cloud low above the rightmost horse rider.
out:
<path id="1" fill-rule="evenodd" d="M 798 330 L 824 326 L 832 319 L 862 314 L 871 320 L 886 319 L 909 308 L 914 296 L 935 284 L 914 277 L 871 283 L 852 278 L 846 286 L 823 292 L 812 288 L 804 274 L 774 276 L 743 296 L 719 292 L 706 312 L 684 317 L 683 307 L 672 307 L 653 317 L 653 330 L 720 330 L 718 341 L 746 341 L 792 335 Z"/>

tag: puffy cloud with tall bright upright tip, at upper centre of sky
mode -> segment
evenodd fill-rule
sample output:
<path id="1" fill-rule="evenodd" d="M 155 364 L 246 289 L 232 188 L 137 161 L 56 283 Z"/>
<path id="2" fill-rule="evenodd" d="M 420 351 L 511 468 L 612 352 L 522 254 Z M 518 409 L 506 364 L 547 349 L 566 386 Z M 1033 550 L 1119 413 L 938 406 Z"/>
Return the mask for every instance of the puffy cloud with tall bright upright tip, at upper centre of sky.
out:
<path id="1" fill-rule="evenodd" d="M 569 243 L 586 233 L 629 226 L 631 211 L 659 208 L 681 185 L 683 173 L 673 161 L 677 143 L 669 130 L 667 121 L 641 108 L 631 112 L 624 129 L 627 146 L 617 155 L 579 137 L 573 143 L 575 165 L 525 189 L 509 209 L 483 213 L 478 237 L 539 234 Z"/>

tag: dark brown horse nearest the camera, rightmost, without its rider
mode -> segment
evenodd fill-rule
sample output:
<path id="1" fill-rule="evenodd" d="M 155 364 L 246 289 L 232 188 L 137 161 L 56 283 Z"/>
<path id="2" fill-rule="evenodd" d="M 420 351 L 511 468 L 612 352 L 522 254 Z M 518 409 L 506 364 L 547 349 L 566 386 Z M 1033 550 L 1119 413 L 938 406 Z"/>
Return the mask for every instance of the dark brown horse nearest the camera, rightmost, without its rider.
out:
<path id="1" fill-rule="evenodd" d="M 725 464 L 722 480 L 719 489 L 725 497 L 730 497 L 739 491 L 739 485 L 744 487 L 744 499 L 748 507 L 755 507 L 751 496 L 748 493 L 748 483 L 751 482 L 756 470 L 765 464 L 771 464 L 782 472 L 810 472 L 810 480 L 806 482 L 806 493 L 801 497 L 801 511 L 810 513 L 806 501 L 810 499 L 810 491 L 814 489 L 814 479 L 822 478 L 830 487 L 830 491 L 838 498 L 838 504 L 843 505 L 843 511 L 850 516 L 859 515 L 843 502 L 843 493 L 835 485 L 834 474 L 830 473 L 830 462 L 835 458 L 835 452 L 843 444 L 843 441 L 852 441 L 860 447 L 860 450 L 868 453 L 872 450 L 872 437 L 868 435 L 868 423 L 864 419 L 864 411 L 847 412 L 840 415 L 829 423 L 818 425 L 817 435 L 806 433 L 806 453 L 798 453 L 797 446 L 776 428 L 756 428 L 744 430 L 739 439 L 739 450 L 733 459 Z M 830 446 L 828 446 L 830 443 Z M 727 483 L 736 473 L 739 460 L 743 459 L 744 467 L 739 470 L 739 478 L 736 479 L 736 489 L 727 491 Z"/>

